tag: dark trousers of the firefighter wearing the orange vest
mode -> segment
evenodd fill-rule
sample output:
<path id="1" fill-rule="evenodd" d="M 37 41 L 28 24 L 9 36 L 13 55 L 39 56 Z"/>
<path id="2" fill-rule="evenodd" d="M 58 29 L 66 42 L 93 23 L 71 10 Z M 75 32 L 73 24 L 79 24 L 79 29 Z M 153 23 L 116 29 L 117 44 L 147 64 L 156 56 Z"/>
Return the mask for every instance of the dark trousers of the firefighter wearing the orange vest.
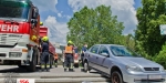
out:
<path id="1" fill-rule="evenodd" d="M 64 69 L 73 69 L 73 54 L 65 54 L 65 60 L 64 60 Z"/>

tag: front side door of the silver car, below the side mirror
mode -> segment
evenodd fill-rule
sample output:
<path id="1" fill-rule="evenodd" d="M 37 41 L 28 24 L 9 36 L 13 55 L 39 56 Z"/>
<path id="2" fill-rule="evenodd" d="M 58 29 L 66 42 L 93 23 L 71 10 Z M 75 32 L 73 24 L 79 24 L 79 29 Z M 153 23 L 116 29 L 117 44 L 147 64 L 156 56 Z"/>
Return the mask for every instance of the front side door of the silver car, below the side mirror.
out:
<path id="1" fill-rule="evenodd" d="M 110 60 L 110 52 L 105 45 L 101 45 L 98 50 L 97 60 L 97 68 L 98 70 L 106 72 L 108 70 L 108 60 Z"/>

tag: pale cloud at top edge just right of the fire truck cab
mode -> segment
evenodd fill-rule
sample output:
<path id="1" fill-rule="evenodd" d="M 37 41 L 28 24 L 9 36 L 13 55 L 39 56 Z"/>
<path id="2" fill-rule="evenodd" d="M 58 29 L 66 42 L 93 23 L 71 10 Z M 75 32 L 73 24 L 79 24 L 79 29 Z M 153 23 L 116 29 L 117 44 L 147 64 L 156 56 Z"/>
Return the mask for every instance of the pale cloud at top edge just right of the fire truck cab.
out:
<path id="1" fill-rule="evenodd" d="M 58 0 L 32 0 L 33 4 L 37 6 L 41 11 L 54 11 L 58 12 L 55 9 L 55 4 L 58 4 Z"/>

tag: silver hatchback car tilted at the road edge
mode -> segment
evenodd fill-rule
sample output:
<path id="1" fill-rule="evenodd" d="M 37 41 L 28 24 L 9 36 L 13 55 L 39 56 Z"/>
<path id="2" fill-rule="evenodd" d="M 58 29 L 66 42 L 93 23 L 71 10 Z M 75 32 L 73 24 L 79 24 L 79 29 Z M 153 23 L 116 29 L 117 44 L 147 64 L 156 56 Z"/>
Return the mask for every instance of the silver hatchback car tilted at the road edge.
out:
<path id="1" fill-rule="evenodd" d="M 160 64 L 146 60 L 124 45 L 95 44 L 85 52 L 84 71 L 96 70 L 112 83 L 164 83 Z"/>

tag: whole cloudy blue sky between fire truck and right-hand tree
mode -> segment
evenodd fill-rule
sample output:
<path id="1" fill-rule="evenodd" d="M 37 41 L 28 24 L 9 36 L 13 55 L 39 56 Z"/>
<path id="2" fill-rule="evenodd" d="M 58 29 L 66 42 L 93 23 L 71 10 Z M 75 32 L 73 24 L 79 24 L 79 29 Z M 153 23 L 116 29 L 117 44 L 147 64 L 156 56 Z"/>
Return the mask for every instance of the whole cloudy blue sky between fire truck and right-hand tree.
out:
<path id="1" fill-rule="evenodd" d="M 65 43 L 66 22 L 75 11 L 87 6 L 95 8 L 100 4 L 111 6 L 117 20 L 124 22 L 124 34 L 134 33 L 136 29 L 136 9 L 142 6 L 141 0 L 32 0 L 39 7 L 41 20 L 50 29 L 52 41 Z M 117 7 L 118 6 L 118 7 Z"/>

